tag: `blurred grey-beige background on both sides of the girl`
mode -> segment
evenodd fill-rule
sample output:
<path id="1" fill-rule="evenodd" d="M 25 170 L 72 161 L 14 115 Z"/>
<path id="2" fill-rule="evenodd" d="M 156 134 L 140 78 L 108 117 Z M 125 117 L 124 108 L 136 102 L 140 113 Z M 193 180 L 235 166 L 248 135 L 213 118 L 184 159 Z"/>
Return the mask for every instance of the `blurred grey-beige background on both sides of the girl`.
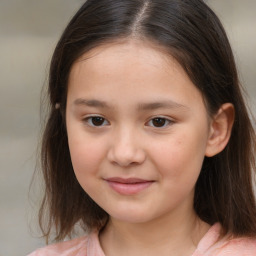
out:
<path id="1" fill-rule="evenodd" d="M 55 44 L 82 0 L 0 0 L 0 256 L 43 246 L 38 191 L 29 187 L 40 134 L 40 93 Z M 256 113 L 256 1 L 208 0 L 227 30 Z M 39 186 L 39 185 L 38 185 Z"/>

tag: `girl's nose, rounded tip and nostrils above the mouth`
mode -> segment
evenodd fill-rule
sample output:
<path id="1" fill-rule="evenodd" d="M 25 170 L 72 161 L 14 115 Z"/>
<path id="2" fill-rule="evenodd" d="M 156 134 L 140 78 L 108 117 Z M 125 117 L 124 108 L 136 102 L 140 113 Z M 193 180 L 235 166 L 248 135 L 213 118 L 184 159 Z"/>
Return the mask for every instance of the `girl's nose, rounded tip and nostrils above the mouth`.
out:
<path id="1" fill-rule="evenodd" d="M 122 167 L 142 164 L 146 159 L 138 136 L 131 130 L 124 129 L 114 134 L 108 151 L 108 160 Z"/>

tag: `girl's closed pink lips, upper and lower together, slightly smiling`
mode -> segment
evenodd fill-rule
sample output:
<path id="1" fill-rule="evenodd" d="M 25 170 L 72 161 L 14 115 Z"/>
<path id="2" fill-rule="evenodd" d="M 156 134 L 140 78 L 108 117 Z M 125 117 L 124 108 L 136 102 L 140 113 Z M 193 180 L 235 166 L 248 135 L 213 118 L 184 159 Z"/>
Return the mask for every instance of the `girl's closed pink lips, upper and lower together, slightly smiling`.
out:
<path id="1" fill-rule="evenodd" d="M 107 178 L 105 181 L 117 193 L 121 195 L 135 195 L 148 188 L 153 184 L 152 180 L 144 180 L 140 178 Z"/>

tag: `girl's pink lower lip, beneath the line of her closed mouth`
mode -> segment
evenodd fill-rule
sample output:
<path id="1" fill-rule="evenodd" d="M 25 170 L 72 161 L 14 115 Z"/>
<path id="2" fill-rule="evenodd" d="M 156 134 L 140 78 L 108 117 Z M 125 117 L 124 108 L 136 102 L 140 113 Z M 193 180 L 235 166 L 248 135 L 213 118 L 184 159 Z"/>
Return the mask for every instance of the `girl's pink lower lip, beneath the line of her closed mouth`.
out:
<path id="1" fill-rule="evenodd" d="M 107 181 L 109 186 L 117 193 L 122 195 L 134 195 L 148 188 L 153 181 L 139 182 L 139 183 L 120 183 L 114 181 Z"/>

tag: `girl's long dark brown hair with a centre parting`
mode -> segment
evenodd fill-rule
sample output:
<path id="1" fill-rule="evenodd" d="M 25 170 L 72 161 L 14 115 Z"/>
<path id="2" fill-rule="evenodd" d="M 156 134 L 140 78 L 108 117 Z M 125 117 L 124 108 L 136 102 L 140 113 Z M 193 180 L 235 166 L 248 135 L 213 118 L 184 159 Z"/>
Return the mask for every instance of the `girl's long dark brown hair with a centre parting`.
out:
<path id="1" fill-rule="evenodd" d="M 90 230 L 108 221 L 108 214 L 81 188 L 73 171 L 65 124 L 68 79 L 82 54 L 133 38 L 163 47 L 178 61 L 202 93 L 210 116 L 223 103 L 234 105 L 229 143 L 218 155 L 205 157 L 194 209 L 208 224 L 220 222 L 225 233 L 256 236 L 255 131 L 226 33 L 202 0 L 88 0 L 71 19 L 50 66 L 50 109 L 41 147 L 46 185 L 39 213 L 43 235 L 49 238 L 54 228 L 59 241 L 78 222 Z"/>

